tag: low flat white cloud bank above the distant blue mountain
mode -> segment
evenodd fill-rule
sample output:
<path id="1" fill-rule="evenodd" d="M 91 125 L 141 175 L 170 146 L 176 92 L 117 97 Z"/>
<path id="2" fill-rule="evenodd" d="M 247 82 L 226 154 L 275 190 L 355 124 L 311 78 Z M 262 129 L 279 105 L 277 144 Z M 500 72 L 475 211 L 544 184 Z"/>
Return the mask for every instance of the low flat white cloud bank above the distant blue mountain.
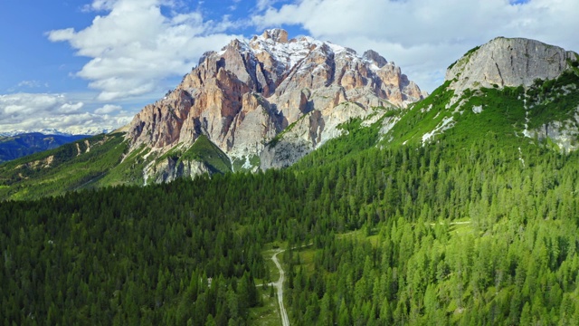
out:
<path id="1" fill-rule="evenodd" d="M 105 105 L 94 113 L 82 101 L 64 94 L 17 93 L 0 95 L 0 133 L 58 129 L 74 134 L 96 133 L 127 124 L 132 115 L 118 105 Z M 110 114 L 110 113 L 116 114 Z"/>

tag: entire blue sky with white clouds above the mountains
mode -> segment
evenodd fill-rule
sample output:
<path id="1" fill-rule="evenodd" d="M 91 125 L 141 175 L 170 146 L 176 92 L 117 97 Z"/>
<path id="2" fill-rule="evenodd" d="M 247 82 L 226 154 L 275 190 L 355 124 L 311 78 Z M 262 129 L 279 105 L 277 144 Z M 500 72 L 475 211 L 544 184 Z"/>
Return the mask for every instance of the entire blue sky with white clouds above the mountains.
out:
<path id="1" fill-rule="evenodd" d="M 373 49 L 423 91 L 497 36 L 579 52 L 579 0 L 0 0 L 0 134 L 117 129 L 206 51 L 284 28 Z"/>

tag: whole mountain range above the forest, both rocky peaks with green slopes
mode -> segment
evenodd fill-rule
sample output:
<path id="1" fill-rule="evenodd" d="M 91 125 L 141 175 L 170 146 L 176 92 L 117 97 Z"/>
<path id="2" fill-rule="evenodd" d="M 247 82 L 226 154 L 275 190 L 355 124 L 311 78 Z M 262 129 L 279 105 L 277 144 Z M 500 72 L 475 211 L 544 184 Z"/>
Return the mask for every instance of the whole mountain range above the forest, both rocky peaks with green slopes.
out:
<path id="1" fill-rule="evenodd" d="M 411 103 L 422 93 L 377 53 L 266 31 L 206 53 L 125 128 L 0 165 L 0 197 L 308 168 L 374 147 L 476 151 L 489 139 L 527 164 L 536 149 L 579 146 L 577 62 L 553 45 L 497 38 Z"/>

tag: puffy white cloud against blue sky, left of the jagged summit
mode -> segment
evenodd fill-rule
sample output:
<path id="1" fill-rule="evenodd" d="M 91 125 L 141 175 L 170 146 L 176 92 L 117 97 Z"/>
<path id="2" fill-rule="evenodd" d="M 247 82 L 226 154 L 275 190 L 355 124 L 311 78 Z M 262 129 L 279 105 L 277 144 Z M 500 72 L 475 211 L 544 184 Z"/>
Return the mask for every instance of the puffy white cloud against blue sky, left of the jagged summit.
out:
<path id="1" fill-rule="evenodd" d="M 183 75 L 202 53 L 228 43 L 233 36 L 223 32 L 235 24 L 228 17 L 204 21 L 171 0 L 94 0 L 85 10 L 104 14 L 85 29 L 54 30 L 48 38 L 90 58 L 77 74 L 100 91 L 99 101 L 158 91 L 165 78 Z"/>

